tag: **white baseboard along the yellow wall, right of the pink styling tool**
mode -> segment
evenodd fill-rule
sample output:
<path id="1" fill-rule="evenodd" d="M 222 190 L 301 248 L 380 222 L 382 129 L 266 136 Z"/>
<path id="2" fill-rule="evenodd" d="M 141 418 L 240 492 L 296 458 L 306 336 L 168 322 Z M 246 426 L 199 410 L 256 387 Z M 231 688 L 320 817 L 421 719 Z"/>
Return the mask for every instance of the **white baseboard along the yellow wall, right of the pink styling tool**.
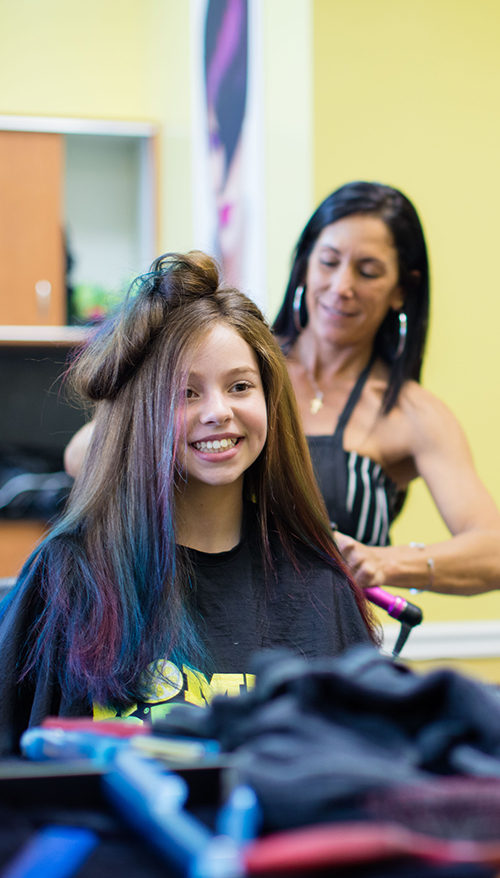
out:
<path id="1" fill-rule="evenodd" d="M 399 631 L 399 625 L 384 626 L 384 652 L 392 652 Z M 413 629 L 401 655 L 413 661 L 500 657 L 500 620 L 424 622 Z"/>

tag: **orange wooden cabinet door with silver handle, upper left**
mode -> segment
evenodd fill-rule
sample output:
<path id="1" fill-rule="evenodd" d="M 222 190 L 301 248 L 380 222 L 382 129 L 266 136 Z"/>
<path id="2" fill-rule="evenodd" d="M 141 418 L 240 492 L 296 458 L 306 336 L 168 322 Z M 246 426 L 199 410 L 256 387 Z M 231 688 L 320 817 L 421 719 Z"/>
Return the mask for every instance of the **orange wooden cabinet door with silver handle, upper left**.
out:
<path id="1" fill-rule="evenodd" d="M 0 131 L 0 324 L 66 323 L 61 134 Z"/>

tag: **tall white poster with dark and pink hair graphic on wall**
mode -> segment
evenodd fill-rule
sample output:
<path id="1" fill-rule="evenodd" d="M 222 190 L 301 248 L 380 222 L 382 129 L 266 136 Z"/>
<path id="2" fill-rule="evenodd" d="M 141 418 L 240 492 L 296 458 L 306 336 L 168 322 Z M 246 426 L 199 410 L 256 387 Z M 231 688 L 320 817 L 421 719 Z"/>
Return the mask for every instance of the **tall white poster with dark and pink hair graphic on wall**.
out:
<path id="1" fill-rule="evenodd" d="M 195 246 L 265 310 L 261 0 L 192 0 Z"/>

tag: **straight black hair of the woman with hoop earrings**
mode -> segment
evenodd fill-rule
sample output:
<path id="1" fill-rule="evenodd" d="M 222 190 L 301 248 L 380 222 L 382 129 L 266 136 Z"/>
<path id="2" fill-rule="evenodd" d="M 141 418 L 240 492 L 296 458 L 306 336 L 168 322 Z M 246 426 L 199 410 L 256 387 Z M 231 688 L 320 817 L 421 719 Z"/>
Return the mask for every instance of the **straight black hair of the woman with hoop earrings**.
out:
<path id="1" fill-rule="evenodd" d="M 395 356 L 399 319 L 390 310 L 375 337 L 374 354 L 390 367 L 384 411 L 396 403 L 401 386 L 408 379 L 420 380 L 429 315 L 429 265 L 424 233 L 411 201 L 391 186 L 381 183 L 355 182 L 341 186 L 320 204 L 302 232 L 292 271 L 273 330 L 287 353 L 298 331 L 293 320 L 293 297 L 298 286 L 306 282 L 307 264 L 317 238 L 337 220 L 353 214 L 380 217 L 392 233 L 398 253 L 399 281 L 403 290 L 403 310 L 407 316 L 406 344 L 401 356 Z M 305 296 L 302 297 L 301 321 L 307 322 Z"/>

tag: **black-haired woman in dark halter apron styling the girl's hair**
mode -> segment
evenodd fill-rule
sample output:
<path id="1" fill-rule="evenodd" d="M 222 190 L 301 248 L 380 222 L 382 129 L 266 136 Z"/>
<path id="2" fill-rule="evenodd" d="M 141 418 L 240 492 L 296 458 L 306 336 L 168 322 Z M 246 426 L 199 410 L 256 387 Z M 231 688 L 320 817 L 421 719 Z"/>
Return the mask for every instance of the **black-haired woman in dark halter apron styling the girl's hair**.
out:
<path id="1" fill-rule="evenodd" d="M 419 384 L 428 309 L 413 205 L 388 186 L 349 183 L 302 232 L 274 331 L 358 584 L 473 595 L 500 587 L 500 514 L 460 424 Z M 390 546 L 391 522 L 418 476 L 451 539 Z"/>

